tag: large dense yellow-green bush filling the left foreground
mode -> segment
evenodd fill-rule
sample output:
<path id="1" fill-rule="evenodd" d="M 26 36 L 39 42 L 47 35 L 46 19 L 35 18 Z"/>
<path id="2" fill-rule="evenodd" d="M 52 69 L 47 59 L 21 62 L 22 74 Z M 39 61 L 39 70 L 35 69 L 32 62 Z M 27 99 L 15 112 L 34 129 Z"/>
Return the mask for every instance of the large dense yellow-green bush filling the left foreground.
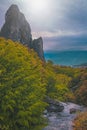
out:
<path id="1" fill-rule="evenodd" d="M 42 62 L 33 50 L 0 38 L 0 129 L 43 125 L 46 103 Z"/>

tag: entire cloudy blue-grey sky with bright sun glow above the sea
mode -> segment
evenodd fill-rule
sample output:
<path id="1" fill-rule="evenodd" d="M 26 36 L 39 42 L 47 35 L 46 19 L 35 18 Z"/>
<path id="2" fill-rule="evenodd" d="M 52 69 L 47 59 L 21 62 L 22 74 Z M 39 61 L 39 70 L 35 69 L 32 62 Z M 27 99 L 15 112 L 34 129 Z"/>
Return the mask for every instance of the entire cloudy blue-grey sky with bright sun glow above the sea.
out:
<path id="1" fill-rule="evenodd" d="M 17 4 L 44 50 L 87 50 L 87 0 L 0 0 L 0 28 L 11 4 Z"/>

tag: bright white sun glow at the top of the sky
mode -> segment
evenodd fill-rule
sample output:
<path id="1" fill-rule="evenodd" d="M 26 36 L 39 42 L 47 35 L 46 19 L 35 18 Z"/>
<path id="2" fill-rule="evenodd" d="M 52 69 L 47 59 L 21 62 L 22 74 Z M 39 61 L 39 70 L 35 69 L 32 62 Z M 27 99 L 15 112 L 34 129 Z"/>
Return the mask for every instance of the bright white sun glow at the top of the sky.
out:
<path id="1" fill-rule="evenodd" d="M 18 0 L 19 1 L 19 0 Z M 51 2 L 50 0 L 21 0 L 21 7 L 24 10 L 26 17 L 29 18 L 32 23 L 35 21 L 46 21 L 51 17 Z"/>

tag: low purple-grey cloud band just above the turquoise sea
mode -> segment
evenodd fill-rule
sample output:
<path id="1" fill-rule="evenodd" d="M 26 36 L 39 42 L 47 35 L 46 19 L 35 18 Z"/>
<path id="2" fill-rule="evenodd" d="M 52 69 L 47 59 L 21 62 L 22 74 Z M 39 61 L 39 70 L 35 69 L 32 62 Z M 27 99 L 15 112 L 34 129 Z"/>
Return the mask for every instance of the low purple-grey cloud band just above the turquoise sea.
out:
<path id="1" fill-rule="evenodd" d="M 44 38 L 44 50 L 87 50 L 87 35 L 65 35 Z"/>

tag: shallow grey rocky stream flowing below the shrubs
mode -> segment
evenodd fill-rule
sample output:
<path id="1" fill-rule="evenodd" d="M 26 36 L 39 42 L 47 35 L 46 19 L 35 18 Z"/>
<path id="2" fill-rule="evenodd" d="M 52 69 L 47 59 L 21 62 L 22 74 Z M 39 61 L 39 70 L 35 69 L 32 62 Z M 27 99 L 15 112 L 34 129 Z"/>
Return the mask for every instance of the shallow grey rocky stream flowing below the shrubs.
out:
<path id="1" fill-rule="evenodd" d="M 48 126 L 43 130 L 73 130 L 73 120 L 78 112 L 85 110 L 83 106 L 74 103 L 62 103 L 62 112 L 47 112 Z"/>

